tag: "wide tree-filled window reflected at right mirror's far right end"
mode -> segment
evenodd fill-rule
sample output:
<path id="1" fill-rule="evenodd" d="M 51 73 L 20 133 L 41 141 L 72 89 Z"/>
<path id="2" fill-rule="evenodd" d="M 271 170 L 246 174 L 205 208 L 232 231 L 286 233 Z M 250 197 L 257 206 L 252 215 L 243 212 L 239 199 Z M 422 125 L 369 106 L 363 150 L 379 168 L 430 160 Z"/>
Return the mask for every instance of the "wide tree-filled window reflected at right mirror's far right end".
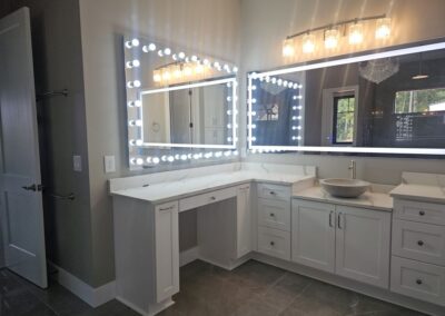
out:
<path id="1" fill-rule="evenodd" d="M 442 102 L 445 102 L 445 88 L 398 91 L 395 98 L 395 112 L 429 111 L 429 106 Z"/>

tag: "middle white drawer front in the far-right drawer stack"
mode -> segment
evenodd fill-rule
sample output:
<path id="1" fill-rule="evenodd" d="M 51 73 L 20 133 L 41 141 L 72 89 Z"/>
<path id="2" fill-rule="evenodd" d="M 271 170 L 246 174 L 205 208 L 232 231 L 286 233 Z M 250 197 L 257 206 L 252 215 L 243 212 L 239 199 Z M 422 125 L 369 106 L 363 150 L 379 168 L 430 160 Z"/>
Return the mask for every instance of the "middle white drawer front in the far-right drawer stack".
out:
<path id="1" fill-rule="evenodd" d="M 445 266 L 445 226 L 394 219 L 393 254 Z"/>

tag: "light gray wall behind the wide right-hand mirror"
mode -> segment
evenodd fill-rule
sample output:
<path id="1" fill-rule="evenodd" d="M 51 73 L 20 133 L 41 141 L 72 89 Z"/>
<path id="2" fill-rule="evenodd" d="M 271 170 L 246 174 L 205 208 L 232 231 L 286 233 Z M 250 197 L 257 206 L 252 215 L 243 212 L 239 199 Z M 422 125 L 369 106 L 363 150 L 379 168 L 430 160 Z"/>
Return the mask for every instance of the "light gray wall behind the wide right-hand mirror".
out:
<path id="1" fill-rule="evenodd" d="M 283 67 L 281 40 L 286 36 L 338 20 L 389 13 L 397 26 L 392 45 L 445 36 L 445 1 L 441 0 L 243 0 L 241 66 L 244 71 Z M 370 45 L 368 48 L 373 48 Z M 347 52 L 337 50 L 336 53 Z M 318 56 L 323 57 L 323 56 Z M 241 85 L 241 88 L 244 86 Z M 241 90 L 241 110 L 245 92 Z M 308 100 L 306 100 L 307 102 Z M 240 130 L 244 130 L 241 118 Z M 243 136 L 241 136 L 243 137 Z M 243 140 L 243 139 L 241 139 Z M 320 177 L 346 177 L 350 157 L 317 155 L 248 155 L 248 161 L 313 165 Z M 354 158 L 358 177 L 382 184 L 398 184 L 404 170 L 445 174 L 443 159 Z"/>

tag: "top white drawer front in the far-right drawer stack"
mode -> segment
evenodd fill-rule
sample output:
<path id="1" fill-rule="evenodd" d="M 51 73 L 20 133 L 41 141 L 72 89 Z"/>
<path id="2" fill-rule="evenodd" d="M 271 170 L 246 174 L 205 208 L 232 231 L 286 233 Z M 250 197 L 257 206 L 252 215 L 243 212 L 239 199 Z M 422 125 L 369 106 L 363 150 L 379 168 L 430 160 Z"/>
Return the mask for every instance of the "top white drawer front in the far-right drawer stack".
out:
<path id="1" fill-rule="evenodd" d="M 445 205 L 395 199 L 394 217 L 398 219 L 445 225 Z"/>

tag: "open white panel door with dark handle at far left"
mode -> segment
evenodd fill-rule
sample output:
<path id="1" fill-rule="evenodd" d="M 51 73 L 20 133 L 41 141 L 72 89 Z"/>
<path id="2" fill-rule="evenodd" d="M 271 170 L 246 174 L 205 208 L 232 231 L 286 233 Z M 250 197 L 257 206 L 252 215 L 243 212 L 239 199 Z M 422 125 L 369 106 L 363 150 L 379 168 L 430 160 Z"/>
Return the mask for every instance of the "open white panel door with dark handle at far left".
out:
<path id="1" fill-rule="evenodd" d="M 47 287 L 29 9 L 0 20 L 1 224 L 9 269 Z"/>

